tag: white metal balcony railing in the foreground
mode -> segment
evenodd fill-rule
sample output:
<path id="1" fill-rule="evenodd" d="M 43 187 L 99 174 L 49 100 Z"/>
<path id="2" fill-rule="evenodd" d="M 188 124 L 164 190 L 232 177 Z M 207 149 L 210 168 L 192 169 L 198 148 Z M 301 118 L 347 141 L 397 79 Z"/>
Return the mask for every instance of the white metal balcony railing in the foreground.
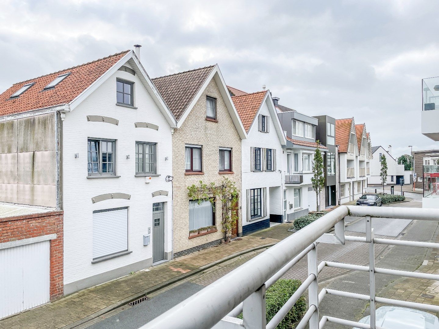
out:
<path id="1" fill-rule="evenodd" d="M 345 216 L 365 217 L 366 237 L 345 235 Z M 303 329 L 324 328 L 327 322 L 348 327 L 381 329 L 375 325 L 375 303 L 417 308 L 438 312 L 439 306 L 376 297 L 375 273 L 405 276 L 417 279 L 439 280 L 439 275 L 408 272 L 375 267 L 375 244 L 410 246 L 439 249 L 438 243 L 378 239 L 374 237 L 374 218 L 417 219 L 439 221 L 436 209 L 381 208 L 342 205 L 320 217 L 313 223 L 292 234 L 270 249 L 262 252 L 232 272 L 210 284 L 208 287 L 176 305 L 166 313 L 142 326 L 143 329 L 274 329 L 291 307 L 308 290 L 308 311 L 296 326 Z M 326 233 L 334 227 L 334 233 Z M 369 244 L 369 265 L 359 266 L 333 261 L 317 263 L 317 242 L 345 244 L 345 241 Z M 308 277 L 289 298 L 277 314 L 266 323 L 265 291 L 280 279 L 303 257 L 308 258 Z M 369 295 L 355 294 L 341 290 L 322 289 L 318 291 L 318 276 L 325 266 L 369 273 Z M 327 295 L 354 298 L 370 302 L 371 325 L 323 315 L 319 318 L 319 304 Z M 243 314 L 243 319 L 237 318 Z M 321 315 L 321 314 L 320 314 Z M 320 319 L 320 321 L 319 321 Z"/>

